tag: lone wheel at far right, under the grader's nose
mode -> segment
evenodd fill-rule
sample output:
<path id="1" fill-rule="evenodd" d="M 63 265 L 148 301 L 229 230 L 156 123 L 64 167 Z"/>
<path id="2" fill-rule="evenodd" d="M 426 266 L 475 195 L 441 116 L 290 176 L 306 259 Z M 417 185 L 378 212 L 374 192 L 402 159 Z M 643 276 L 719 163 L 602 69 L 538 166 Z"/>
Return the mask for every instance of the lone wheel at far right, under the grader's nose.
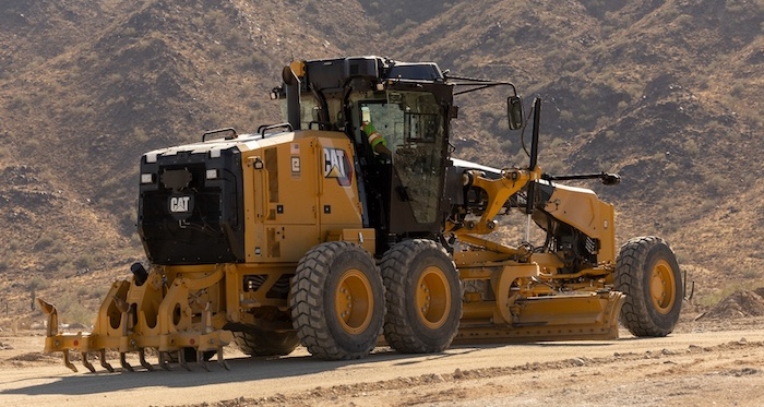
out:
<path id="1" fill-rule="evenodd" d="M 616 262 L 616 289 L 625 294 L 621 323 L 634 336 L 670 334 L 682 308 L 682 276 L 668 243 L 655 236 L 633 238 Z"/>

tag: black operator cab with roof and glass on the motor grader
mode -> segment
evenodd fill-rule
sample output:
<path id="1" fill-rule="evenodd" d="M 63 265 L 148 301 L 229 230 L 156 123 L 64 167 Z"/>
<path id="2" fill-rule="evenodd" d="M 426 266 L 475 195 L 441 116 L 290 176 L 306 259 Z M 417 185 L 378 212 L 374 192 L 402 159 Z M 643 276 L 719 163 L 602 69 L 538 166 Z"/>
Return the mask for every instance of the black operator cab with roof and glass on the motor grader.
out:
<path id="1" fill-rule="evenodd" d="M 453 85 L 437 64 L 378 57 L 296 62 L 274 89 L 273 97 L 280 96 L 295 130 L 342 131 L 353 141 L 363 226 L 377 230 L 378 253 L 442 230 L 449 123 L 456 109 Z M 363 110 L 390 156 L 372 151 Z"/>

